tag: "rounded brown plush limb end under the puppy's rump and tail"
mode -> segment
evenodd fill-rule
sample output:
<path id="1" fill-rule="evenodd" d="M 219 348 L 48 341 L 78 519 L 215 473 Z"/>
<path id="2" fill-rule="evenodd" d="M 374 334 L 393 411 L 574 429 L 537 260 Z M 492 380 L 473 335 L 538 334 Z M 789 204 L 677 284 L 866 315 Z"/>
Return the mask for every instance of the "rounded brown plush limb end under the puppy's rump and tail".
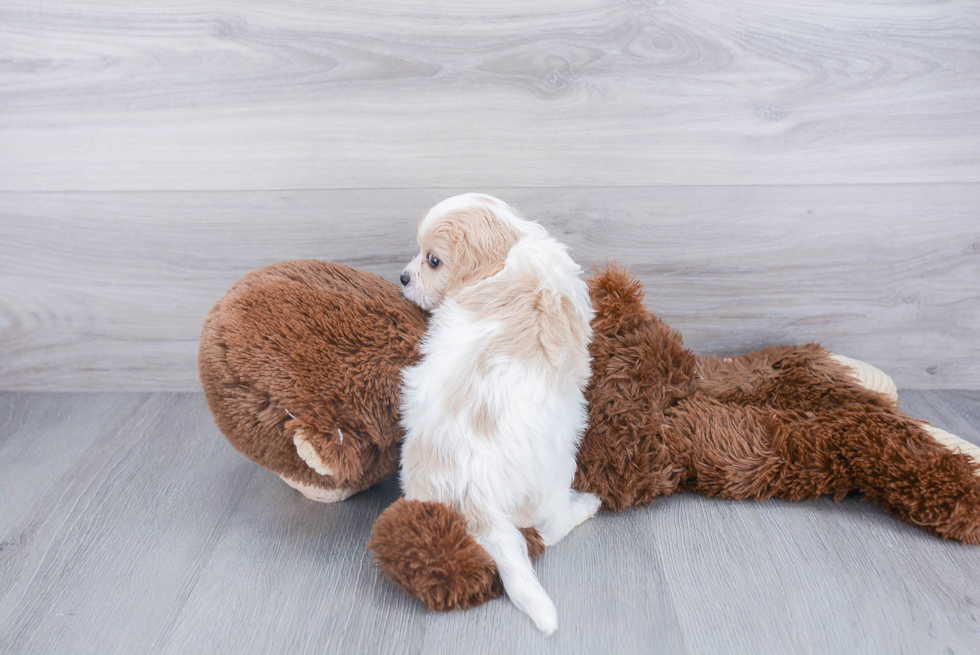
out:
<path id="1" fill-rule="evenodd" d="M 540 536 L 521 532 L 536 560 L 544 552 Z M 466 531 L 466 518 L 442 503 L 395 501 L 375 522 L 368 548 L 381 572 L 429 609 L 468 609 L 504 591 L 493 558 Z"/>

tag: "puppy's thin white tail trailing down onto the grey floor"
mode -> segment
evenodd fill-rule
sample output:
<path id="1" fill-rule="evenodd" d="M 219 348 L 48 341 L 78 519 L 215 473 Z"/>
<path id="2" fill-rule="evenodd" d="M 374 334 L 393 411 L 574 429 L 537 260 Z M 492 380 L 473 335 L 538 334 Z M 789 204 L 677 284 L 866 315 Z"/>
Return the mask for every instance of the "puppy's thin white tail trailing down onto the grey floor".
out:
<path id="1" fill-rule="evenodd" d="M 558 614 L 534 574 L 524 535 L 503 516 L 490 518 L 488 526 L 477 541 L 497 563 L 507 596 L 538 630 L 550 635 L 558 627 Z"/>

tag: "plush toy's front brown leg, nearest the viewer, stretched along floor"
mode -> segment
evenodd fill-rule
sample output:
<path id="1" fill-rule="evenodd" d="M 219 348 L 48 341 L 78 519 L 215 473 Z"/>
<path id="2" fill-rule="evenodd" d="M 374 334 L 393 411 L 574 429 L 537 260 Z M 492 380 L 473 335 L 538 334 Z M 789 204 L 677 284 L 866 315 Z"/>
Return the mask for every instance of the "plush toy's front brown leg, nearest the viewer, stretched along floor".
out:
<path id="1" fill-rule="evenodd" d="M 683 488 L 732 499 L 841 498 L 851 490 L 933 534 L 980 544 L 980 464 L 921 422 L 872 404 L 818 412 L 681 403 L 665 441 Z"/>

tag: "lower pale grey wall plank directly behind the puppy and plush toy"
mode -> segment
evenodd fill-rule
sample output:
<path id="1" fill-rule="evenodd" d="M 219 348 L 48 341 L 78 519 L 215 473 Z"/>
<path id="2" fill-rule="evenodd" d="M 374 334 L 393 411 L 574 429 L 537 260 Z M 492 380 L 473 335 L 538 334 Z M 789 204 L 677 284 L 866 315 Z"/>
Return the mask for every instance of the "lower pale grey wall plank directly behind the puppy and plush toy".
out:
<path id="1" fill-rule="evenodd" d="M 980 185 L 485 189 L 618 260 L 699 352 L 817 341 L 980 387 Z M 454 189 L 0 194 L 0 389 L 198 389 L 211 305 L 282 259 L 394 281 Z"/>

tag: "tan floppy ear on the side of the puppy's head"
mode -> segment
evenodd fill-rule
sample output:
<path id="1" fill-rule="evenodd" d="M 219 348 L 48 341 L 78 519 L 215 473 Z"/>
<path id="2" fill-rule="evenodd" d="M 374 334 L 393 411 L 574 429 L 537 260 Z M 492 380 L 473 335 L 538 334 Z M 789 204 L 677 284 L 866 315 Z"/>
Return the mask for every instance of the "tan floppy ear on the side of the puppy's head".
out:
<path id="1" fill-rule="evenodd" d="M 435 230 L 450 253 L 447 294 L 485 280 L 503 269 L 518 231 L 483 207 L 453 212 Z"/>

